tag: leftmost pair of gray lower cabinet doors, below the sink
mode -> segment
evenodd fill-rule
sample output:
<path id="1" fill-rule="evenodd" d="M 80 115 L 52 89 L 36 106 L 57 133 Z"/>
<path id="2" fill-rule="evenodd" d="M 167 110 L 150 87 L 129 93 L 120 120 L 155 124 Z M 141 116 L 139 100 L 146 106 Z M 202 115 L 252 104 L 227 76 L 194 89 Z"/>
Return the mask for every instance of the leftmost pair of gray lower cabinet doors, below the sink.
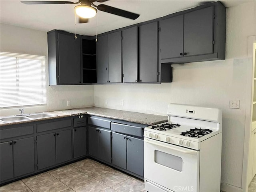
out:
<path id="1" fill-rule="evenodd" d="M 1 143 L 1 181 L 34 170 L 34 137 Z"/>

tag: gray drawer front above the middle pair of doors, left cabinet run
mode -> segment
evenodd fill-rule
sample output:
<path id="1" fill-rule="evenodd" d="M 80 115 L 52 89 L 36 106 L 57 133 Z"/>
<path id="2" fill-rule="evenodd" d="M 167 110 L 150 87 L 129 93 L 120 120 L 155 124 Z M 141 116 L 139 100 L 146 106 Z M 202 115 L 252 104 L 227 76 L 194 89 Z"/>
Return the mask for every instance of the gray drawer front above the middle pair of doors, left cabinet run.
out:
<path id="1" fill-rule="evenodd" d="M 36 125 L 36 132 L 40 133 L 44 131 L 60 129 L 60 128 L 65 128 L 70 126 L 71 126 L 71 119 L 41 123 Z"/>

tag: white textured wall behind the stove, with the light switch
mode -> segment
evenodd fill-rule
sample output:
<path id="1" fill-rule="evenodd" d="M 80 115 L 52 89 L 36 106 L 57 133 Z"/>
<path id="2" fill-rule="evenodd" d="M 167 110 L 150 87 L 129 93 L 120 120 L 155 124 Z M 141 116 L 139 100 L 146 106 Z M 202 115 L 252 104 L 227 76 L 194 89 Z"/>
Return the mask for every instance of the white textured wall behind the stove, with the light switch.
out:
<path id="1" fill-rule="evenodd" d="M 250 99 L 251 59 L 248 36 L 256 34 L 256 2 L 227 8 L 226 60 L 175 64 L 173 82 L 138 85 L 95 85 L 95 106 L 166 115 L 169 103 L 221 108 L 222 183 L 242 186 L 244 132 Z M 108 105 L 105 105 L 105 100 Z M 230 109 L 229 100 L 240 100 Z M 124 100 L 124 106 L 120 101 Z M 244 184 L 243 184 L 244 185 Z M 241 189 L 240 189 L 241 190 Z"/>

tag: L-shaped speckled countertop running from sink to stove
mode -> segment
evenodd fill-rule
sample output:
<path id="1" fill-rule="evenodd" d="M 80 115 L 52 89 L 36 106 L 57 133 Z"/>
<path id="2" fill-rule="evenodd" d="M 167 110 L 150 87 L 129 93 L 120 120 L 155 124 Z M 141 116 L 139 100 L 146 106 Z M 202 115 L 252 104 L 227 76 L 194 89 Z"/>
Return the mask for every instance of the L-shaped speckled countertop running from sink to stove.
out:
<path id="1" fill-rule="evenodd" d="M 100 108 L 100 107 L 76 108 L 76 109 L 60 110 L 60 111 L 46 112 L 46 113 L 54 114 L 55 116 L 45 117 L 40 119 L 22 120 L 22 121 L 16 121 L 16 122 L 5 122 L 5 123 L 0 122 L 0 126 L 21 124 L 25 122 L 34 122 L 34 121 L 48 120 L 48 119 L 54 119 L 54 118 L 77 116 L 82 114 L 95 115 L 100 117 L 124 120 L 128 122 L 134 122 L 134 123 L 140 123 L 140 124 L 146 124 L 146 125 L 156 125 L 162 122 L 166 122 L 168 120 L 168 116 L 129 112 L 129 111 L 107 109 L 107 108 Z"/>

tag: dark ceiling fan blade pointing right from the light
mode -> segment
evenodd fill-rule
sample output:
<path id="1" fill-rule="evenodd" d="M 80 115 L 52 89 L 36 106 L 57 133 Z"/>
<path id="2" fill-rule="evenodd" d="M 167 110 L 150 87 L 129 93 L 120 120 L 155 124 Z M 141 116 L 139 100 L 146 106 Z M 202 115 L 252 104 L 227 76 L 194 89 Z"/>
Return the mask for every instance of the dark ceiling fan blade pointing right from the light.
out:
<path id="1" fill-rule="evenodd" d="M 107 12 L 107 13 L 118 15 L 118 16 L 121 16 L 121 17 L 126 17 L 126 18 L 133 19 L 133 20 L 135 20 L 136 18 L 138 18 L 140 16 L 136 13 L 128 12 L 128 11 L 118 9 L 118 8 L 115 8 L 115 7 L 111 7 L 111 6 L 108 6 L 108 5 L 104 5 L 104 4 L 98 5 L 97 9 L 100 10 L 100 11 L 104 11 L 104 12 Z"/>

